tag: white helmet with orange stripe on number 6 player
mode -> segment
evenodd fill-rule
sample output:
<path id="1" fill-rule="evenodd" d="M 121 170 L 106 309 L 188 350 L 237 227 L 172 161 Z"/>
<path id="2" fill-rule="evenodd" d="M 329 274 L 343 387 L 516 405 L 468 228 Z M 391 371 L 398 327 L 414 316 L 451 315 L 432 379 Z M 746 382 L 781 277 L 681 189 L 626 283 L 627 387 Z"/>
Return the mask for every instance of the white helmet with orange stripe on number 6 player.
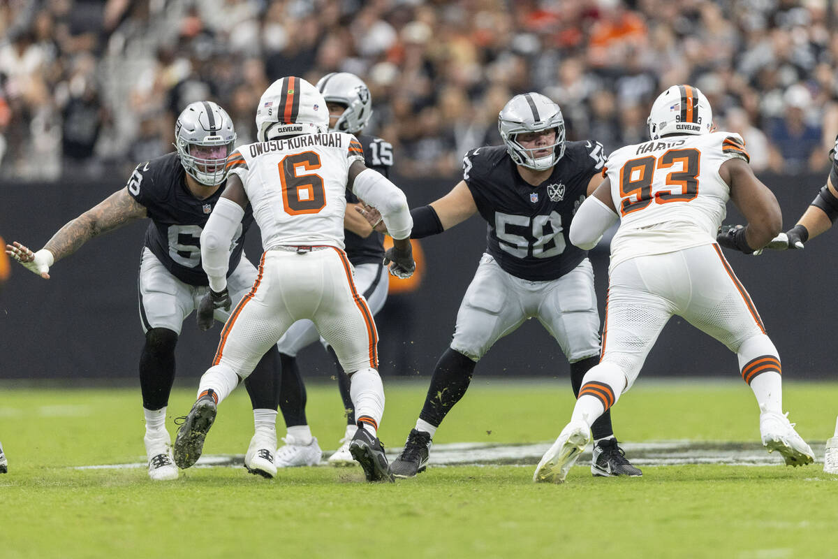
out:
<path id="1" fill-rule="evenodd" d="M 260 142 L 325 132 L 328 132 L 326 100 L 308 81 L 288 75 L 262 93 L 256 107 L 256 139 Z"/>

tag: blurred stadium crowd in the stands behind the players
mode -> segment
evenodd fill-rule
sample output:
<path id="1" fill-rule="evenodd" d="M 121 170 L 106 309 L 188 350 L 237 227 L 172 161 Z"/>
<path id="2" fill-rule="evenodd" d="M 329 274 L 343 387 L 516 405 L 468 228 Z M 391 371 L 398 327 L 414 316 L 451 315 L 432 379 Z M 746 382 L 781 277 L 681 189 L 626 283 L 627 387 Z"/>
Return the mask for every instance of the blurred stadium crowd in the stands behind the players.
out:
<path id="1" fill-rule="evenodd" d="M 9 0 L 0 4 L 0 178 L 96 178 L 171 151 L 190 101 L 254 140 L 282 75 L 360 75 L 399 173 L 458 173 L 539 91 L 569 140 L 642 141 L 656 92 L 691 83 L 755 171 L 824 172 L 838 132 L 828 0 Z M 130 172 L 130 168 L 128 169 Z"/>

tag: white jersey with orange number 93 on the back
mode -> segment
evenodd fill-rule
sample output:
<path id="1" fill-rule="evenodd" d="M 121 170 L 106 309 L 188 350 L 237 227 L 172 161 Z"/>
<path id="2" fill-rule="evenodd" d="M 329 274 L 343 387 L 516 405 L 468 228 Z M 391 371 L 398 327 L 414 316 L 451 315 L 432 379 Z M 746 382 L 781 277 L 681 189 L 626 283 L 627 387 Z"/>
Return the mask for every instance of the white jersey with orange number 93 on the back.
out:
<path id="1" fill-rule="evenodd" d="M 635 256 L 716 242 L 730 198 L 719 168 L 731 158 L 748 161 L 734 132 L 662 137 L 612 153 L 603 175 L 621 221 L 611 268 Z"/>

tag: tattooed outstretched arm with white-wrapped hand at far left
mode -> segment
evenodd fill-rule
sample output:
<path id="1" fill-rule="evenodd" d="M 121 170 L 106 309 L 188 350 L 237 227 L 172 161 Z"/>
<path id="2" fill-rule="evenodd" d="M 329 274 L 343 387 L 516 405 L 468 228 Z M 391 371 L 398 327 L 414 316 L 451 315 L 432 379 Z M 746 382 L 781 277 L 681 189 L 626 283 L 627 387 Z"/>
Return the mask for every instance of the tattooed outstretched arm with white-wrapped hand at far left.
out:
<path id="1" fill-rule="evenodd" d="M 133 199 L 127 188 L 117 190 L 59 229 L 41 250 L 30 251 L 15 241 L 13 245 L 6 245 L 6 253 L 31 272 L 49 279 L 50 266 L 79 250 L 80 246 L 91 238 L 118 229 L 133 220 L 142 219 L 146 215 L 145 206 Z"/>

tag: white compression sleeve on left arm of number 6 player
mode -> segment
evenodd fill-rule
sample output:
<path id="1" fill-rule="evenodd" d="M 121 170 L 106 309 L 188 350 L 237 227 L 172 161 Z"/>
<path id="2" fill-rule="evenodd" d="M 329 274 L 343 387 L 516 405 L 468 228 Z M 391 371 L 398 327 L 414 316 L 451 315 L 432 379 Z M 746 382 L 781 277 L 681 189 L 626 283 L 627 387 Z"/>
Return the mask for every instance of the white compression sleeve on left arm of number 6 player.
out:
<path id="1" fill-rule="evenodd" d="M 239 204 L 221 197 L 209 215 L 207 225 L 204 225 L 201 233 L 201 266 L 209 280 L 209 288 L 215 292 L 227 287 L 230 243 L 244 216 L 245 210 Z"/>

